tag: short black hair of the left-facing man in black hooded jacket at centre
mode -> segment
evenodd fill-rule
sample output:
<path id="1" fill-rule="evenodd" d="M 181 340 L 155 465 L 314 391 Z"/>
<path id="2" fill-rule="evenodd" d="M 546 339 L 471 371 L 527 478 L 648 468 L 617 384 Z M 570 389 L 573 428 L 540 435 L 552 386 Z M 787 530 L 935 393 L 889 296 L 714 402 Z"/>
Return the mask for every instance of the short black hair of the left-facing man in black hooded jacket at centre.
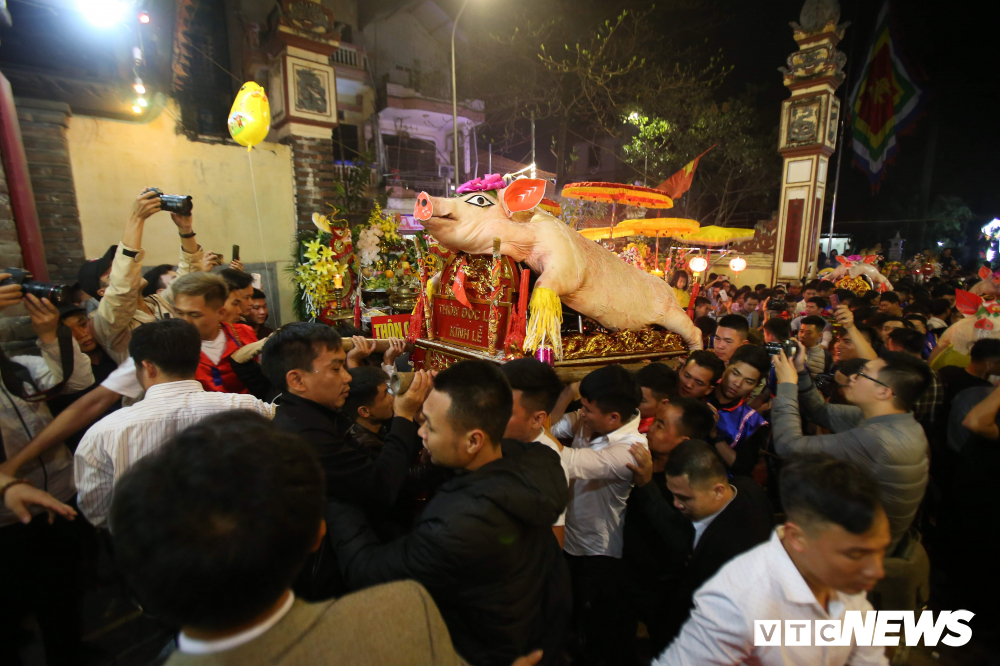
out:
<path id="1" fill-rule="evenodd" d="M 514 396 L 495 363 L 460 361 L 438 373 L 434 390 L 451 398 L 448 418 L 457 430 L 482 430 L 494 447 L 500 446 L 514 410 Z"/>

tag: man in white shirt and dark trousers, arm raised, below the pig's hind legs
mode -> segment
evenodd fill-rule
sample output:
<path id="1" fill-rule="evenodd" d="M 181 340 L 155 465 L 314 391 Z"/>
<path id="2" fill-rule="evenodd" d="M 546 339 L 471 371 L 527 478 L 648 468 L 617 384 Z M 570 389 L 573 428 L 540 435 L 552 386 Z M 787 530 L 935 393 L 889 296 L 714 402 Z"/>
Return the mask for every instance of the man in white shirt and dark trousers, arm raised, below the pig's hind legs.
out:
<path id="1" fill-rule="evenodd" d="M 582 408 L 562 416 L 579 391 Z M 630 653 L 634 625 L 621 578 L 625 503 L 635 462 L 642 389 L 620 365 L 606 365 L 567 386 L 553 410 L 553 436 L 573 439 L 561 456 L 570 478 L 563 544 L 573 578 L 581 663 L 616 663 Z"/>

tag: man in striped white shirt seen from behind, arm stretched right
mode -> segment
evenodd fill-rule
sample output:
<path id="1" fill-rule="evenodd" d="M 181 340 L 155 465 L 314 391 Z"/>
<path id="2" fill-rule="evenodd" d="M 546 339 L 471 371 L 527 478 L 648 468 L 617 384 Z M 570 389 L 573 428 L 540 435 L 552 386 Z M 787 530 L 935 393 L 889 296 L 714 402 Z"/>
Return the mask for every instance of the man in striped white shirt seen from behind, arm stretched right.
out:
<path id="1" fill-rule="evenodd" d="M 164 319 L 132 332 L 129 353 L 146 391 L 142 402 L 108 415 L 84 435 L 74 477 L 80 510 L 96 527 L 107 524 L 115 481 L 177 432 L 211 414 L 249 409 L 273 416 L 252 396 L 206 392 L 195 380 L 201 337 L 190 324 Z"/>

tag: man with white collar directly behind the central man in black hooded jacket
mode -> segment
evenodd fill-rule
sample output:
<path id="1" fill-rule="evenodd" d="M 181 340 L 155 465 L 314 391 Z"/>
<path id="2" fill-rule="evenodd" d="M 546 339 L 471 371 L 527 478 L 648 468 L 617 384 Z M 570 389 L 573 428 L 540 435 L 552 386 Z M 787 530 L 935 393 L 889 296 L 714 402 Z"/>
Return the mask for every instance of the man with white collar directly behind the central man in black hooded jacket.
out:
<path id="1" fill-rule="evenodd" d="M 547 363 L 533 358 L 519 358 L 500 366 L 500 370 L 514 393 L 514 409 L 504 430 L 504 439 L 516 439 L 521 442 L 541 442 L 556 453 L 563 446 L 552 435 L 546 432 L 549 425 L 549 414 L 555 409 L 562 393 L 562 382 L 556 371 Z M 565 462 L 563 470 L 566 469 Z M 569 474 L 566 475 L 569 482 Z M 566 512 L 563 511 L 552 532 L 563 545 L 566 530 Z"/>

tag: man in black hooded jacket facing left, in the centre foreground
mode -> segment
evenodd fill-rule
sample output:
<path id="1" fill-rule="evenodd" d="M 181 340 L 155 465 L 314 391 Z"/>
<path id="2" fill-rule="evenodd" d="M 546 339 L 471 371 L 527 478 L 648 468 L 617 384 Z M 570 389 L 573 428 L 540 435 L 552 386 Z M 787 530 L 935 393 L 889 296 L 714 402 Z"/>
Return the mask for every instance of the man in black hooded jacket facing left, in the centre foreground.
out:
<path id="1" fill-rule="evenodd" d="M 441 486 L 413 531 L 382 544 L 354 507 L 331 502 L 327 511 L 349 587 L 420 582 L 456 650 L 475 666 L 506 666 L 537 648 L 551 663 L 572 609 L 551 529 L 566 506 L 566 476 L 544 444 L 501 444 L 512 405 L 495 365 L 451 366 L 434 379 L 420 435 L 435 464 L 463 471 Z"/>

